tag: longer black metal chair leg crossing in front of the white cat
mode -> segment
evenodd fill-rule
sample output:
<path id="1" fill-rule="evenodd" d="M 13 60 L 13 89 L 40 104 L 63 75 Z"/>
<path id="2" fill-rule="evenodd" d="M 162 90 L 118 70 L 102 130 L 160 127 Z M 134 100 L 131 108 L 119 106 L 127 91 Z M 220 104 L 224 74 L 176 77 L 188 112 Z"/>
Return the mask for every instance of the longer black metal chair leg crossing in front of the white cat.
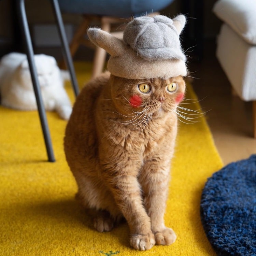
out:
<path id="1" fill-rule="evenodd" d="M 17 0 L 17 12 L 20 19 L 21 29 L 25 37 L 28 64 L 29 64 L 31 79 L 34 87 L 35 98 L 37 100 L 38 113 L 41 121 L 48 160 L 49 162 L 55 162 L 51 136 L 48 128 L 45 109 L 44 109 L 40 86 L 39 86 L 38 77 L 37 77 L 37 71 L 36 71 L 35 62 L 34 62 L 34 52 L 33 52 L 33 47 L 31 43 L 29 28 L 28 28 L 24 0 Z"/>

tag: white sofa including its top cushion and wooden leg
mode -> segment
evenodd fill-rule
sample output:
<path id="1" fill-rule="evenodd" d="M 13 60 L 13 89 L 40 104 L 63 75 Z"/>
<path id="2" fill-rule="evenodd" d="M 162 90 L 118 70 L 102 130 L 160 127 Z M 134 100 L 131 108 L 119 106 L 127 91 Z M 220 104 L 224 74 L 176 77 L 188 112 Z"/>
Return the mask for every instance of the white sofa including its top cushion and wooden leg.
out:
<path id="1" fill-rule="evenodd" d="M 256 0 L 218 0 L 214 14 L 223 21 L 216 57 L 233 90 L 244 101 L 256 100 Z"/>

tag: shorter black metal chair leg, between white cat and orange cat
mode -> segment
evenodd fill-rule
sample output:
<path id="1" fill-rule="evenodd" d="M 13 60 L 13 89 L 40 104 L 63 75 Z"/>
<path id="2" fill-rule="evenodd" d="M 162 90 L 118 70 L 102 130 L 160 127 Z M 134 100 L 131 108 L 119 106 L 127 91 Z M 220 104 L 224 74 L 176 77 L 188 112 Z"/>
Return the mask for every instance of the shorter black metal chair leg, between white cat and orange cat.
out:
<path id="1" fill-rule="evenodd" d="M 59 35 L 60 35 L 60 39 L 61 39 L 61 44 L 62 44 L 63 57 L 65 59 L 66 65 L 67 65 L 67 67 L 69 69 L 69 72 L 70 72 L 70 77 L 71 77 L 71 81 L 72 81 L 75 96 L 77 96 L 79 94 L 79 88 L 78 88 L 78 85 L 77 85 L 74 65 L 73 65 L 73 61 L 72 61 L 70 50 L 69 50 L 69 44 L 68 44 L 68 41 L 67 41 L 66 32 L 65 32 L 65 29 L 64 29 L 64 26 L 63 26 L 61 12 L 60 12 L 60 9 L 59 9 L 59 3 L 58 3 L 58 0 L 51 0 L 51 2 L 52 2 L 55 18 L 56 18 L 57 25 L 58 25 L 58 31 L 59 31 Z"/>

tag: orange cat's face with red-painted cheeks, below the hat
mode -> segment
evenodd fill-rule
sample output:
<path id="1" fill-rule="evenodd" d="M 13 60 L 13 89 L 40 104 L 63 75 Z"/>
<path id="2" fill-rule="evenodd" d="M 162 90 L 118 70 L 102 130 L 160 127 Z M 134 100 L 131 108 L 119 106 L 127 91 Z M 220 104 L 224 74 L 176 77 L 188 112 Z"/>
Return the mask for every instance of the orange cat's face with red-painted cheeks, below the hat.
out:
<path id="1" fill-rule="evenodd" d="M 111 84 L 116 111 L 123 115 L 143 111 L 148 118 L 159 118 L 175 111 L 185 93 L 182 76 L 145 80 L 111 76 Z"/>

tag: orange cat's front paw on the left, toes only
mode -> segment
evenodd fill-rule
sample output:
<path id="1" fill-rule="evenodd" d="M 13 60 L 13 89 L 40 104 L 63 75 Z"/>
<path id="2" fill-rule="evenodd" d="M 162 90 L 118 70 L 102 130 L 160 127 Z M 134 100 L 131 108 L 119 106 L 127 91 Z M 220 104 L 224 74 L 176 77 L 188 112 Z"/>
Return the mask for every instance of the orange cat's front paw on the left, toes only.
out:
<path id="1" fill-rule="evenodd" d="M 153 233 L 147 235 L 133 234 L 130 238 L 130 245 L 137 250 L 145 251 L 151 249 L 155 244 Z"/>

